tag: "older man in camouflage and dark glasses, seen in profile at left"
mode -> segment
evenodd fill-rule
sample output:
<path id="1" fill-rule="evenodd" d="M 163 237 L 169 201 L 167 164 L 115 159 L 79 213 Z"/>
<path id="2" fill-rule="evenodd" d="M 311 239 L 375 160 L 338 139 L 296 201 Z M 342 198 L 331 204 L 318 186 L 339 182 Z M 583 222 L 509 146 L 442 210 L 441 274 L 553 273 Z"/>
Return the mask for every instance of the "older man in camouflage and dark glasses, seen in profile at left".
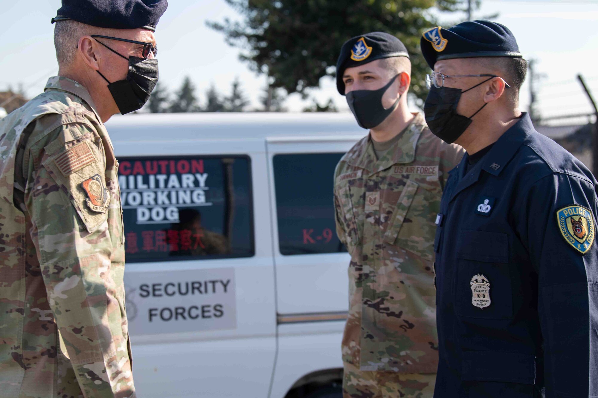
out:
<path id="1" fill-rule="evenodd" d="M 0 397 L 135 397 L 118 163 L 103 122 L 147 100 L 167 3 L 110 4 L 63 1 L 59 76 L 0 121 Z"/>

